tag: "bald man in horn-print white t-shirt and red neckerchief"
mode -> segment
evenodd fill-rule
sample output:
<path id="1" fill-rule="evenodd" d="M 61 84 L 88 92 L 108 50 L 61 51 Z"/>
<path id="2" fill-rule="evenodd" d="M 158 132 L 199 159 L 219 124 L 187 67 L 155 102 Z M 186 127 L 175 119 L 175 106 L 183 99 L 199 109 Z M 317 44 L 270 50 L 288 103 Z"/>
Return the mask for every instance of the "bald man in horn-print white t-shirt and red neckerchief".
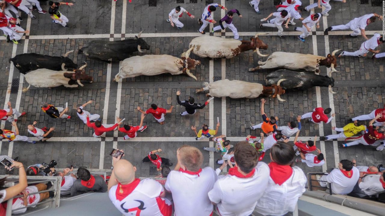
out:
<path id="1" fill-rule="evenodd" d="M 136 167 L 127 160 L 113 158 L 113 169 L 108 182 L 112 204 L 123 215 L 171 216 L 172 204 L 165 199 L 162 185 L 152 179 L 135 178 Z"/>

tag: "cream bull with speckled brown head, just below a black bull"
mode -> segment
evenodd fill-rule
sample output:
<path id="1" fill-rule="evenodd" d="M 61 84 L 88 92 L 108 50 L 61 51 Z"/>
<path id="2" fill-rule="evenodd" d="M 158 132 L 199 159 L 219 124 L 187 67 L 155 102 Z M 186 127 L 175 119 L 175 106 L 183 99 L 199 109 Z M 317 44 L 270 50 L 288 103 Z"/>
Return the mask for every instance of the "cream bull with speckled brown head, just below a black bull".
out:
<path id="1" fill-rule="evenodd" d="M 161 73 L 171 73 L 178 75 L 187 74 L 196 80 L 196 76 L 190 73 L 201 61 L 196 61 L 189 57 L 192 48 L 182 54 L 181 58 L 171 55 L 144 55 L 126 58 L 122 61 L 121 69 L 115 76 L 114 81 L 121 78 L 130 78 L 135 76 L 154 76 Z"/>

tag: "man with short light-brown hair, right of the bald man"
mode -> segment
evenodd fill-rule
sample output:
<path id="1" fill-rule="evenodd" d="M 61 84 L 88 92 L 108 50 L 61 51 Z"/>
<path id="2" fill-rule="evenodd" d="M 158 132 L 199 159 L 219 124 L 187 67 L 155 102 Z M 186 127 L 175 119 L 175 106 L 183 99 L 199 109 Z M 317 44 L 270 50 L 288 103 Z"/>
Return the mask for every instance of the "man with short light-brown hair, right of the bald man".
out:
<path id="1" fill-rule="evenodd" d="M 208 192 L 213 189 L 217 174 L 211 167 L 201 168 L 202 152 L 193 146 L 182 146 L 177 150 L 178 163 L 167 176 L 164 187 L 172 193 L 175 215 L 209 216 L 213 204 Z"/>

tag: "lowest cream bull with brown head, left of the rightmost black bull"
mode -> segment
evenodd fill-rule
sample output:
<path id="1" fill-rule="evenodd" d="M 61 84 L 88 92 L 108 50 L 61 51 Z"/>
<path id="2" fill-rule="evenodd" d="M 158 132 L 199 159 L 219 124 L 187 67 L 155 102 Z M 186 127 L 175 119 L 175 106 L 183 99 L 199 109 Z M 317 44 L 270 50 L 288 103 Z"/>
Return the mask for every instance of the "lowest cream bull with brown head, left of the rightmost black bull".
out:
<path id="1" fill-rule="evenodd" d="M 230 98 L 258 98 L 259 96 L 273 96 L 277 97 L 280 101 L 285 101 L 281 99 L 280 95 L 285 93 L 280 86 L 281 81 L 279 80 L 277 85 L 273 84 L 271 86 L 264 86 L 259 83 L 249 83 L 240 80 L 219 80 L 212 83 L 203 83 L 204 88 L 199 88 L 196 90 L 196 93 L 201 91 L 209 90 L 209 93 L 206 96 L 212 97 L 230 97 Z"/>

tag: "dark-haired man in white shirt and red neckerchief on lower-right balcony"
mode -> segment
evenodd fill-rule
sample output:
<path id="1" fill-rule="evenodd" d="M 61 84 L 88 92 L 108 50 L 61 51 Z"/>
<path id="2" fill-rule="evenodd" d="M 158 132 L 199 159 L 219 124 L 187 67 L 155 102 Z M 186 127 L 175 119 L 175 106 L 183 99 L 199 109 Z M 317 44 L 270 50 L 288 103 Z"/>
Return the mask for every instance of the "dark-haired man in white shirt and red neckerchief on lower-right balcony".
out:
<path id="1" fill-rule="evenodd" d="M 331 183 L 331 191 L 335 194 L 348 194 L 352 192 L 355 184 L 360 178 L 360 171 L 353 166 L 350 160 L 341 160 L 338 169 L 333 169 L 329 174 L 319 176 L 320 185 L 326 187 L 327 183 Z M 325 182 L 322 182 L 325 181 Z"/>

